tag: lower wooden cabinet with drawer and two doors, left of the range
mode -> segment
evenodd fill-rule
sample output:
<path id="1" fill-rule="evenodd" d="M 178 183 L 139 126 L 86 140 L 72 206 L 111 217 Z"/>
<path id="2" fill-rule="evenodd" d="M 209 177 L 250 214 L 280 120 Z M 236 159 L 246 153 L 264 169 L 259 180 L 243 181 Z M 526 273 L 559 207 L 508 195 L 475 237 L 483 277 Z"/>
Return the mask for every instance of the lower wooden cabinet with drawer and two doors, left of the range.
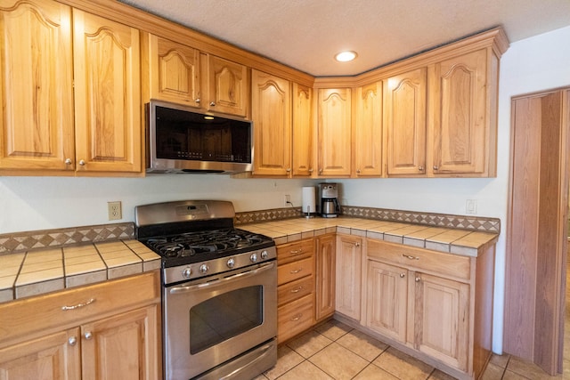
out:
<path id="1" fill-rule="evenodd" d="M 0 378 L 159 378 L 159 294 L 157 271 L 1 304 Z"/>

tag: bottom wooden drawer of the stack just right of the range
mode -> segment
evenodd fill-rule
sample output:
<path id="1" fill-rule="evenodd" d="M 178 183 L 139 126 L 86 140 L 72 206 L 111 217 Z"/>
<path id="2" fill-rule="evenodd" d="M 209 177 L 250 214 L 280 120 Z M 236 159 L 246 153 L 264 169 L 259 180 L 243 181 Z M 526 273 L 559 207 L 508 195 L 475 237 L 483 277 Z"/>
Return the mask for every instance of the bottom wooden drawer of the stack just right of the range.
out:
<path id="1" fill-rule="evenodd" d="M 277 309 L 277 343 L 313 326 L 314 297 L 305 295 Z"/>

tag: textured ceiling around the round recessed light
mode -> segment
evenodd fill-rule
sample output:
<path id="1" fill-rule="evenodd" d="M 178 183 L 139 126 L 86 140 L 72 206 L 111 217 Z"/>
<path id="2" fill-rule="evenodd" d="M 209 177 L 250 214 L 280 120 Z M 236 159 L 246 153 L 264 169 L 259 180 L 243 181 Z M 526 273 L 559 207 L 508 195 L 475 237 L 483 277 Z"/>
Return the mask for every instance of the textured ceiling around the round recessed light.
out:
<path id="1" fill-rule="evenodd" d="M 570 25 L 570 0 L 120 1 L 315 77 L 360 74 L 495 26 L 512 43 Z M 358 58 L 334 61 L 342 50 Z"/>

